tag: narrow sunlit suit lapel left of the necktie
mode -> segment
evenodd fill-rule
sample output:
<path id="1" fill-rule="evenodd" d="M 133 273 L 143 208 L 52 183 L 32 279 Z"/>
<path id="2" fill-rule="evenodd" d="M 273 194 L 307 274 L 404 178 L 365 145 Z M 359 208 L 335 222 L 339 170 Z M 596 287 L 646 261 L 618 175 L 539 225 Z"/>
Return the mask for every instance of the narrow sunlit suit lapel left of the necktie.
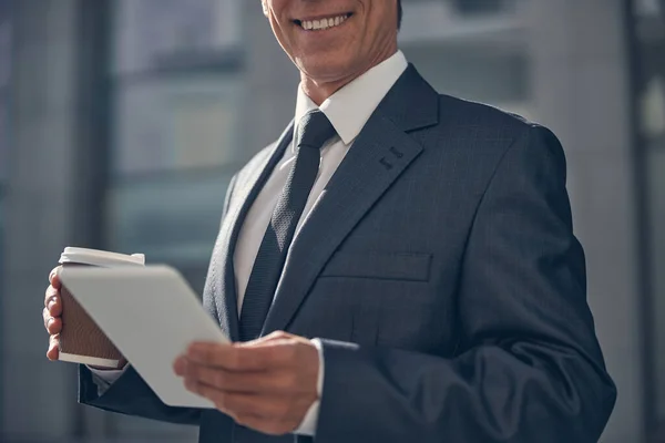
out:
<path id="1" fill-rule="evenodd" d="M 217 319 L 222 329 L 227 331 L 233 341 L 239 339 L 237 293 L 233 267 L 235 246 L 247 212 L 291 142 L 293 131 L 294 123 L 291 122 L 273 150 L 254 164 L 249 163 L 238 174 L 228 214 L 219 229 L 213 257 L 213 260 L 217 260 L 216 271 L 208 278 L 212 278 L 213 285 L 216 285 L 213 298 Z"/>

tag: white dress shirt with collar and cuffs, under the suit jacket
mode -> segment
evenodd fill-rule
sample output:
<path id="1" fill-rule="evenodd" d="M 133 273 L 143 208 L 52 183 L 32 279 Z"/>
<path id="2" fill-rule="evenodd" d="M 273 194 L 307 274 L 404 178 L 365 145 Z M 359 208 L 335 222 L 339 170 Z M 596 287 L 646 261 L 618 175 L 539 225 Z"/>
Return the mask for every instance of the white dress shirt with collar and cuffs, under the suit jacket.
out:
<path id="1" fill-rule="evenodd" d="M 300 227 L 307 222 L 316 200 L 321 195 L 321 192 L 328 184 L 330 177 L 332 177 L 332 174 L 335 174 L 335 171 L 337 171 L 337 167 L 354 144 L 354 141 L 358 134 L 360 134 L 360 131 L 362 131 L 362 127 L 365 127 L 365 124 L 371 114 L 397 82 L 399 76 L 405 72 L 408 63 L 403 53 L 397 51 L 392 56 L 345 85 L 318 106 L 335 127 L 337 136 L 330 138 L 321 148 L 319 173 L 309 194 L 309 198 L 307 199 L 307 205 L 298 222 L 294 241 L 297 239 Z M 303 87 L 298 87 L 295 116 L 296 125 L 307 112 L 316 109 L 317 105 L 305 94 Z M 297 134 L 297 128 L 294 133 Z M 297 147 L 294 141 L 290 148 L 286 150 L 284 157 L 266 181 L 264 187 L 256 197 L 256 200 L 252 205 L 252 208 L 247 213 L 247 217 L 241 229 L 234 253 L 238 315 L 242 310 L 243 299 L 245 297 L 245 290 L 247 289 L 247 282 L 249 281 L 254 260 L 258 254 L 258 248 L 260 247 L 268 223 L 270 222 L 273 209 L 277 204 L 282 189 L 286 185 L 288 173 L 297 154 L 296 150 Z M 316 339 L 314 339 L 313 342 L 319 351 L 317 388 L 320 399 L 323 396 L 324 384 L 324 356 L 320 342 Z M 123 370 L 92 371 L 108 383 L 117 380 L 123 372 Z M 296 430 L 296 434 L 310 436 L 316 434 L 319 404 L 319 400 L 313 403 L 303 420 L 303 423 L 300 423 L 300 426 Z"/>

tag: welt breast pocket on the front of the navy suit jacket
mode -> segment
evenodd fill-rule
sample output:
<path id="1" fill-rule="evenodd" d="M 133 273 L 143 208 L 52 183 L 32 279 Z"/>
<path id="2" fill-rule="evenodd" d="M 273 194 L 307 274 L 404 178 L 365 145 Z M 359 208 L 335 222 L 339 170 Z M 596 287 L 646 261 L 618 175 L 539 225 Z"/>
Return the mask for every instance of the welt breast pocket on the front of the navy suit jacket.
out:
<path id="1" fill-rule="evenodd" d="M 347 253 L 332 256 L 320 278 L 428 281 L 432 256 L 419 253 Z"/>

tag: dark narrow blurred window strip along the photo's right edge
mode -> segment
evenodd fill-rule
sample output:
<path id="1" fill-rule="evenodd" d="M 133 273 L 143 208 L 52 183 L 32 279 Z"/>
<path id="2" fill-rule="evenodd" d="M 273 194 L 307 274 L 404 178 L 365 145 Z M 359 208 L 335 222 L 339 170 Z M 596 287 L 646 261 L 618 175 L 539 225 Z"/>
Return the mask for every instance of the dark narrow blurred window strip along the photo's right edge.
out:
<path id="1" fill-rule="evenodd" d="M 645 269 L 651 290 L 646 296 L 652 308 L 646 313 L 651 316 L 652 330 L 646 333 L 654 347 L 649 360 L 654 367 L 649 372 L 655 380 L 647 380 L 646 384 L 655 385 L 649 399 L 653 404 L 647 410 L 647 422 L 655 429 L 647 432 L 649 436 L 659 435 L 658 440 L 665 430 L 665 1 L 635 0 L 633 19 L 638 60 L 637 132 L 642 143 L 637 148 L 646 175 L 642 182 L 645 187 L 641 189 L 645 194 L 643 248 L 647 253 Z"/>

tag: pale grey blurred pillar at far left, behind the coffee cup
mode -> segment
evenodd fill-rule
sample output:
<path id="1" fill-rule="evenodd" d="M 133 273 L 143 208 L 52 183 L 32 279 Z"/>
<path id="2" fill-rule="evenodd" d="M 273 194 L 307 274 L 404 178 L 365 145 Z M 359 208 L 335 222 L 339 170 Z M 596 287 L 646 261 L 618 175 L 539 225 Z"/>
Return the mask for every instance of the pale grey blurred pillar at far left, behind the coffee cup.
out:
<path id="1" fill-rule="evenodd" d="M 47 361 L 41 319 L 49 270 L 74 237 L 75 1 L 13 2 L 13 32 L 0 433 L 45 441 L 78 426 L 74 368 Z"/>

